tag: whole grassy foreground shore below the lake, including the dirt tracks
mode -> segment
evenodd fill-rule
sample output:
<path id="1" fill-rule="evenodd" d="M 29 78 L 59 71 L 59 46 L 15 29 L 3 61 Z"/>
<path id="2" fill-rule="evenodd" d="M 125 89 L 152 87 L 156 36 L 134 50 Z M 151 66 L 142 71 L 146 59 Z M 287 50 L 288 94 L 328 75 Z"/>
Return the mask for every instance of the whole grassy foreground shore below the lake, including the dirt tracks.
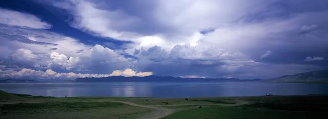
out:
<path id="1" fill-rule="evenodd" d="M 200 108 L 201 107 L 201 108 Z M 0 118 L 323 118 L 328 96 L 55 98 L 0 90 Z"/>

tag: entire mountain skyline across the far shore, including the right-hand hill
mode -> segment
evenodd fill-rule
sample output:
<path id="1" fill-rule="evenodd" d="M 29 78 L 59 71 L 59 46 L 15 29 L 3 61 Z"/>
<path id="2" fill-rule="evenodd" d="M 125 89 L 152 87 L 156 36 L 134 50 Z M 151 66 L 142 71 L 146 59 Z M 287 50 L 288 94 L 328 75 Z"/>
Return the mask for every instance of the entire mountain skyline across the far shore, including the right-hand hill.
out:
<path id="1" fill-rule="evenodd" d="M 60 82 L 299 82 L 299 83 L 328 83 L 328 69 L 316 70 L 313 72 L 300 73 L 295 75 L 285 75 L 272 79 L 237 79 L 237 78 L 181 78 L 170 76 L 146 76 L 146 77 L 123 77 L 112 76 L 105 78 L 77 78 L 75 80 L 61 80 Z M 0 80 L 0 83 L 29 83 L 40 82 L 28 79 L 6 79 Z M 47 80 L 42 82 L 59 82 L 56 80 Z"/>

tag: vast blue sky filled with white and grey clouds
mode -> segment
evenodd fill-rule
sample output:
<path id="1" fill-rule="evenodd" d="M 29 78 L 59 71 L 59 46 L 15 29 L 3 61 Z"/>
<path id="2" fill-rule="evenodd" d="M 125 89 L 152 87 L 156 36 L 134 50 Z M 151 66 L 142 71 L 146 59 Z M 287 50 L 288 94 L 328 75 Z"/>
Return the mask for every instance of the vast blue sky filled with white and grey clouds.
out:
<path id="1" fill-rule="evenodd" d="M 0 14 L 0 79 L 269 79 L 328 68 L 325 0 L 12 0 Z"/>

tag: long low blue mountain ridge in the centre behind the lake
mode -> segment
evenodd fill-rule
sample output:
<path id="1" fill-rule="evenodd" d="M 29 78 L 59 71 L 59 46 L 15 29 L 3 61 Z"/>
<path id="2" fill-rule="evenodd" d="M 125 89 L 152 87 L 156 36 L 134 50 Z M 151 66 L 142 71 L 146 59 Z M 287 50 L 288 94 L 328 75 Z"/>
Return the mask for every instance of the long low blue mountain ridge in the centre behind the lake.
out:
<path id="1" fill-rule="evenodd" d="M 210 79 L 210 78 L 180 78 L 180 77 L 161 77 L 161 76 L 146 76 L 146 77 L 122 77 L 122 76 L 113 76 L 113 77 L 106 77 L 106 78 L 77 78 L 75 82 L 216 82 L 216 81 L 223 81 L 223 82 L 237 82 L 237 81 L 261 81 L 260 79 L 236 79 L 236 78 L 217 78 L 217 79 Z"/>

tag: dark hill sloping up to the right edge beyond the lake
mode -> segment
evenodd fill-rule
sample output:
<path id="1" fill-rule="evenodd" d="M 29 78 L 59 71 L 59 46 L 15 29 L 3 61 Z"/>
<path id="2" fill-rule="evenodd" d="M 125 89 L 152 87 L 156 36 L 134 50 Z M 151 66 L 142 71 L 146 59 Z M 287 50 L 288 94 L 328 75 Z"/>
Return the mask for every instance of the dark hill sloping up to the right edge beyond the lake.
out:
<path id="1" fill-rule="evenodd" d="M 272 78 L 270 82 L 328 83 L 328 69 Z"/>

